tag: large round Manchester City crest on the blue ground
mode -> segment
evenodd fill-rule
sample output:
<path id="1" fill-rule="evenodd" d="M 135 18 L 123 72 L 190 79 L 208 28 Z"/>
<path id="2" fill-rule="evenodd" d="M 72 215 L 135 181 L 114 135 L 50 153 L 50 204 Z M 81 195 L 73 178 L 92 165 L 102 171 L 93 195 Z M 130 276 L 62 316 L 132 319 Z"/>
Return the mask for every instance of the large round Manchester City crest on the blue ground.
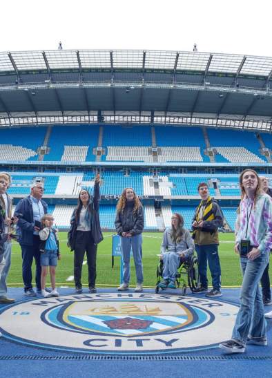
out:
<path id="1" fill-rule="evenodd" d="M 4 308 L 3 336 L 25 345 L 143 355 L 214 348 L 229 339 L 237 305 L 200 296 L 103 293 L 32 299 Z"/>

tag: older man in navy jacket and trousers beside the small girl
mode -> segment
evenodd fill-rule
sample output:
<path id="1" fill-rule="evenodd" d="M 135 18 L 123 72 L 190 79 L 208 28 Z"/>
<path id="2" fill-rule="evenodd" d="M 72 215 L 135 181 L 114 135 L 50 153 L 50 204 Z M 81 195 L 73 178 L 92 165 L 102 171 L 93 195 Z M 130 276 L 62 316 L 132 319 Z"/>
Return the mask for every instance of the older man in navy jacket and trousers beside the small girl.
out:
<path id="1" fill-rule="evenodd" d="M 27 296 L 41 294 L 41 255 L 39 252 L 39 230 L 41 229 L 41 217 L 47 214 L 47 204 L 41 200 L 43 196 L 43 185 L 35 182 L 31 187 L 30 196 L 23 198 L 17 204 L 14 215 L 19 218 L 17 223 L 17 234 L 21 245 L 23 258 L 23 283 Z M 32 289 L 31 266 L 35 258 L 36 263 L 36 287 L 37 294 Z"/>

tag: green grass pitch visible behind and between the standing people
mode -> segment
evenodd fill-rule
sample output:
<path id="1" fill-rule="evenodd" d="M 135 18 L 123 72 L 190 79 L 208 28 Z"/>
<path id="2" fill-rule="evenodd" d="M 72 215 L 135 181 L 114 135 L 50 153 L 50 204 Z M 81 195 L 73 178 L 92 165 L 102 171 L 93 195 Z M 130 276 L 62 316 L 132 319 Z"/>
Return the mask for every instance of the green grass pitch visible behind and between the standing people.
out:
<path id="1" fill-rule="evenodd" d="M 104 233 L 104 240 L 99 244 L 97 250 L 97 286 L 119 285 L 120 258 L 115 257 L 115 265 L 111 267 L 111 244 L 112 233 Z M 73 281 L 67 281 L 73 276 L 73 252 L 70 252 L 67 243 L 67 233 L 59 233 L 61 260 L 57 267 L 57 285 L 74 285 Z M 144 286 L 154 287 L 156 282 L 156 269 L 162 233 L 145 232 L 143 234 L 143 265 L 144 265 Z M 239 286 L 242 283 L 240 272 L 239 256 L 234 251 L 234 234 L 220 234 L 220 262 L 222 269 L 222 286 Z M 35 264 L 33 263 L 33 266 Z M 270 273 L 272 270 L 270 270 Z M 35 277 L 33 275 L 33 277 Z M 88 285 L 88 268 L 83 265 L 82 283 Z M 23 286 L 21 278 L 21 249 L 19 244 L 12 245 L 12 265 L 8 276 L 10 287 Z M 32 281 L 34 282 L 34 279 Z M 208 283 L 211 285 L 211 275 L 208 274 Z M 130 284 L 135 285 L 135 268 L 131 258 L 131 279 Z M 49 281 L 48 281 L 49 285 Z"/>

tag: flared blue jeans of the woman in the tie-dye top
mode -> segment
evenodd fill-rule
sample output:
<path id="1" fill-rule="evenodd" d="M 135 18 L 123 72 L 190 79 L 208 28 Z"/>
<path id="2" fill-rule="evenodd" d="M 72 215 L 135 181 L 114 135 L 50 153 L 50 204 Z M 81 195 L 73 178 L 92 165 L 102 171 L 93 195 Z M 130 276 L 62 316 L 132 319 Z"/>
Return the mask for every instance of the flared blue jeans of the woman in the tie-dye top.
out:
<path id="1" fill-rule="evenodd" d="M 247 337 L 253 339 L 266 337 L 264 305 L 259 282 L 268 261 L 268 253 L 262 254 L 253 261 L 247 258 L 240 259 L 244 278 L 240 293 L 240 310 L 236 317 L 232 339 L 242 345 L 246 344 Z"/>

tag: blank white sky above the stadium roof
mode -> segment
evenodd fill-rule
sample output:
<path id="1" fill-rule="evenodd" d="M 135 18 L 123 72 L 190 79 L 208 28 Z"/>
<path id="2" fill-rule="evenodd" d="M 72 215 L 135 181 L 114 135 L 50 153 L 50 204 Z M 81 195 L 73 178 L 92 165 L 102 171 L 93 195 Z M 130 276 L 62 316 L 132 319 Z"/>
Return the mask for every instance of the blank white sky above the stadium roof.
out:
<path id="1" fill-rule="evenodd" d="M 0 51 L 193 50 L 272 56 L 270 0 L 3 0 Z"/>

